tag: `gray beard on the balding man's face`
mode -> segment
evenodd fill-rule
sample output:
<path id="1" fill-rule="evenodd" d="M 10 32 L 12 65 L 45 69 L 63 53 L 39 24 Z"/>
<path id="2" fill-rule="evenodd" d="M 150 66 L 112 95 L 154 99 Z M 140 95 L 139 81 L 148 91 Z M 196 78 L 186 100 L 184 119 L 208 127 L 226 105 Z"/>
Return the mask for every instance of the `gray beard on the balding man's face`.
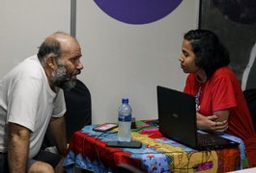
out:
<path id="1" fill-rule="evenodd" d="M 64 90 L 71 90 L 75 86 L 75 81 L 67 74 L 65 65 L 59 64 L 58 69 L 52 72 L 51 80 L 54 86 L 58 86 Z"/>

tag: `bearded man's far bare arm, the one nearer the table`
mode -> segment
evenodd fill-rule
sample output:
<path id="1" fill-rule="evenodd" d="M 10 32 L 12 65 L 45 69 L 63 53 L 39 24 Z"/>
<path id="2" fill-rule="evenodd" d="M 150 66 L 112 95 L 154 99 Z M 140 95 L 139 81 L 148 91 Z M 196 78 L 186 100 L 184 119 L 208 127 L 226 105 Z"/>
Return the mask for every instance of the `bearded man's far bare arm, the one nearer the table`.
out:
<path id="1" fill-rule="evenodd" d="M 65 117 L 52 117 L 49 123 L 48 130 L 55 140 L 58 153 L 65 157 L 67 154 Z"/>

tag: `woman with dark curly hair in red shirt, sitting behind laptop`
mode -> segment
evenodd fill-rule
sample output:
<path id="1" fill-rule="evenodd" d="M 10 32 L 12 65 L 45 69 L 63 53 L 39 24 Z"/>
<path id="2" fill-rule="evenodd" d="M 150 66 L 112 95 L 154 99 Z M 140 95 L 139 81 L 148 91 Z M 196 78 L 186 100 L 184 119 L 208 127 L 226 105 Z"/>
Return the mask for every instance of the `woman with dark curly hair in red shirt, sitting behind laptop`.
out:
<path id="1" fill-rule="evenodd" d="M 191 30 L 179 61 L 188 73 L 184 91 L 195 96 L 198 129 L 239 136 L 249 166 L 256 166 L 256 135 L 242 87 L 228 67 L 227 49 L 213 32 Z"/>

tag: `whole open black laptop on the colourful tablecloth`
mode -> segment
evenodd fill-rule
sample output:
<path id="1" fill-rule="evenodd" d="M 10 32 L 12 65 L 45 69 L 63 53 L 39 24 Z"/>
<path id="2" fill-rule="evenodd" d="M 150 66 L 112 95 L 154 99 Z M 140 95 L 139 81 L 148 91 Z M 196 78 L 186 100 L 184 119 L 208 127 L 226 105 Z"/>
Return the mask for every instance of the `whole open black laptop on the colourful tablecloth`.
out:
<path id="1" fill-rule="evenodd" d="M 227 138 L 197 131 L 195 99 L 171 88 L 156 86 L 159 132 L 196 150 L 239 145 Z"/>

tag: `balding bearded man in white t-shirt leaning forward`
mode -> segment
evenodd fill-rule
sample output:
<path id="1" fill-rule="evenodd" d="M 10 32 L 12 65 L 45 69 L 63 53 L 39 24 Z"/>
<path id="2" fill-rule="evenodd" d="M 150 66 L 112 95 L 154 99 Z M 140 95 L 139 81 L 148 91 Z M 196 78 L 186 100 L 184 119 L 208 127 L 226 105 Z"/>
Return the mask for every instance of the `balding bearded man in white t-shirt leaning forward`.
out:
<path id="1" fill-rule="evenodd" d="M 64 172 L 63 89 L 75 85 L 81 56 L 77 40 L 57 32 L 0 79 L 0 172 Z M 40 150 L 47 128 L 59 155 Z"/>

